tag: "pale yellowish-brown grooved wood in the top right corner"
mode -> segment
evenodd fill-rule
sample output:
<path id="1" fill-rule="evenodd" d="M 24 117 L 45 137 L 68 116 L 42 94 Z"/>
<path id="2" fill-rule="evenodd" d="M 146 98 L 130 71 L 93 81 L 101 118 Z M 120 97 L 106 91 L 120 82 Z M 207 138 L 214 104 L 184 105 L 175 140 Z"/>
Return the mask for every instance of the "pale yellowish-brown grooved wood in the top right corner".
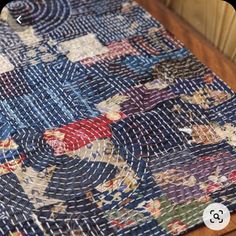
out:
<path id="1" fill-rule="evenodd" d="M 232 5 L 222 0 L 162 1 L 236 63 L 236 11 Z"/>

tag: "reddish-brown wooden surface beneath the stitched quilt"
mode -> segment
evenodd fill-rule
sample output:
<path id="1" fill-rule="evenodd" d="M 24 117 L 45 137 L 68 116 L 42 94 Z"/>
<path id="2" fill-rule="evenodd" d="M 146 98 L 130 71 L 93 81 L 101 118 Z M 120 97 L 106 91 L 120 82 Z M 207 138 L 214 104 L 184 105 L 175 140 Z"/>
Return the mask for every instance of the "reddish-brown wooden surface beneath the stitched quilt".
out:
<path id="1" fill-rule="evenodd" d="M 196 32 L 188 23 L 182 20 L 161 3 L 161 0 L 136 0 L 161 22 L 177 39 L 211 68 L 234 91 L 236 91 L 236 65 L 214 48 L 206 39 Z M 212 231 L 202 226 L 185 236 L 236 236 L 236 214 L 231 215 L 229 225 L 221 231 Z"/>

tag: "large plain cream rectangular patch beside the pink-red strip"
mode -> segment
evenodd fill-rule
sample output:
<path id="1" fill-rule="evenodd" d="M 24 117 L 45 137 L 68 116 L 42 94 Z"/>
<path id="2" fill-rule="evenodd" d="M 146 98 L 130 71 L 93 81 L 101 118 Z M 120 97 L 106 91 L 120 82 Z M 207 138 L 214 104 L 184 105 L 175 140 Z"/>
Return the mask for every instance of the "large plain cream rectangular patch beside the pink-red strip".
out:
<path id="1" fill-rule="evenodd" d="M 72 39 L 60 43 L 61 52 L 68 52 L 67 57 L 72 61 L 80 61 L 85 58 L 94 57 L 107 53 L 108 48 L 104 47 L 94 34 Z"/>

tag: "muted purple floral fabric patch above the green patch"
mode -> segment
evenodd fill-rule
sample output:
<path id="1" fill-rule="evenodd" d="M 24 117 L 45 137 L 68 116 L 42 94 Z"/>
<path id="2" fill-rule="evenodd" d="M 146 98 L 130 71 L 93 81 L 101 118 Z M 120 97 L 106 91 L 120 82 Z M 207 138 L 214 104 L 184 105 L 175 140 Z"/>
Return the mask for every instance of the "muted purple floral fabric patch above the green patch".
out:
<path id="1" fill-rule="evenodd" d="M 231 163 L 231 168 L 225 167 L 225 163 Z M 183 203 L 192 199 L 209 198 L 210 193 L 232 184 L 234 180 L 230 176 L 233 176 L 234 166 L 235 157 L 230 153 L 220 152 L 199 157 L 181 168 L 177 163 L 176 167 L 153 175 L 171 201 Z"/>

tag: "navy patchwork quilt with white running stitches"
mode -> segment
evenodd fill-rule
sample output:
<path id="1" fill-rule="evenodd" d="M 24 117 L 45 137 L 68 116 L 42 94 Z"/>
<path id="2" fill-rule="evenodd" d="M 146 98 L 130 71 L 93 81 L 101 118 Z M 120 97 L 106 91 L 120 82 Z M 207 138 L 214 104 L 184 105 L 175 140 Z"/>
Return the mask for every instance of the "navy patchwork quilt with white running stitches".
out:
<path id="1" fill-rule="evenodd" d="M 235 93 L 135 2 L 4 8 L 1 236 L 182 234 L 236 210 L 235 148 Z"/>

